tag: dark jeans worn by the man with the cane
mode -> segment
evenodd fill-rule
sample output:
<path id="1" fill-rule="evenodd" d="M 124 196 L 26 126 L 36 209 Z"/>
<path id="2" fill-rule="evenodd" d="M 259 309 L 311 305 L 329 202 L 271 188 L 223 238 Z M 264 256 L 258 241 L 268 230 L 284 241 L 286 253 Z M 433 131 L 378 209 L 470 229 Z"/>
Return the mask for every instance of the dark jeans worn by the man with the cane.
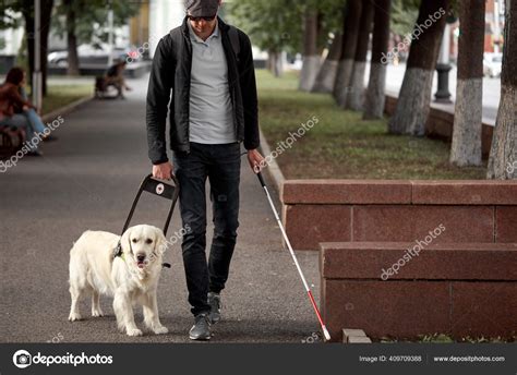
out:
<path id="1" fill-rule="evenodd" d="M 208 291 L 225 288 L 239 227 L 240 144 L 191 143 L 190 154 L 175 153 L 175 174 L 180 183 L 180 211 L 185 234 L 181 244 L 194 315 L 208 312 Z M 205 184 L 211 184 L 214 238 L 206 263 Z"/>

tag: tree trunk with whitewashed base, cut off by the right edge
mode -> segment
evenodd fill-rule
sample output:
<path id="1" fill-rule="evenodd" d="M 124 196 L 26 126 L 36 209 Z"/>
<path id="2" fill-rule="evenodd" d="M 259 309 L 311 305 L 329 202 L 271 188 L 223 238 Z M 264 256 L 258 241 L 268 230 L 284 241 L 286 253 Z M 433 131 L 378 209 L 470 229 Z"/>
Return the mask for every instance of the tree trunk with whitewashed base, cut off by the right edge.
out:
<path id="1" fill-rule="evenodd" d="M 489 179 L 517 179 L 517 0 L 506 0 L 501 101 L 490 150 Z"/>

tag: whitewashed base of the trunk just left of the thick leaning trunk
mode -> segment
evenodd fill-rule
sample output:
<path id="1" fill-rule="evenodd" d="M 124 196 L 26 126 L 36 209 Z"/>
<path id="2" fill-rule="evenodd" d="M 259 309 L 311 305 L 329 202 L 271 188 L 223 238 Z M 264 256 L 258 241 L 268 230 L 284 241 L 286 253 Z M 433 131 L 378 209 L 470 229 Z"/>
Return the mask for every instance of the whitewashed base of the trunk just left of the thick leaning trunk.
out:
<path id="1" fill-rule="evenodd" d="M 364 96 L 364 120 L 382 119 L 386 101 L 386 65 L 373 62 L 370 66 L 370 81 Z"/>

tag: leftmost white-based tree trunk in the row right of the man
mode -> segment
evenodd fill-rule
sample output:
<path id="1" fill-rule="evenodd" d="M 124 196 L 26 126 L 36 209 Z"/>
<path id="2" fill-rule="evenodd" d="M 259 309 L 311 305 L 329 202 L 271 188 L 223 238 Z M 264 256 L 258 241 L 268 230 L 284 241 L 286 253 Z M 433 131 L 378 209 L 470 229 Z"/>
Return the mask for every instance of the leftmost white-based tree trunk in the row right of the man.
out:
<path id="1" fill-rule="evenodd" d="M 317 12 L 308 7 L 304 23 L 303 64 L 299 88 L 304 92 L 310 92 L 316 80 L 321 60 L 317 53 Z"/>

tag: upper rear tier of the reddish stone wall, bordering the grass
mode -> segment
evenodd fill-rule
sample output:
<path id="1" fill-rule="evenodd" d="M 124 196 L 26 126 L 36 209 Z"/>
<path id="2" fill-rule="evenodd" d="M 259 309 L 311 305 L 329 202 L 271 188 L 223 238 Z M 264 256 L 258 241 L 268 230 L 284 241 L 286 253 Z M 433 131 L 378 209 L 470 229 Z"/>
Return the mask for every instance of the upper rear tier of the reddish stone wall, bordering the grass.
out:
<path id="1" fill-rule="evenodd" d="M 517 242 L 517 182 L 289 180 L 282 217 L 296 250 L 320 242 Z"/>

